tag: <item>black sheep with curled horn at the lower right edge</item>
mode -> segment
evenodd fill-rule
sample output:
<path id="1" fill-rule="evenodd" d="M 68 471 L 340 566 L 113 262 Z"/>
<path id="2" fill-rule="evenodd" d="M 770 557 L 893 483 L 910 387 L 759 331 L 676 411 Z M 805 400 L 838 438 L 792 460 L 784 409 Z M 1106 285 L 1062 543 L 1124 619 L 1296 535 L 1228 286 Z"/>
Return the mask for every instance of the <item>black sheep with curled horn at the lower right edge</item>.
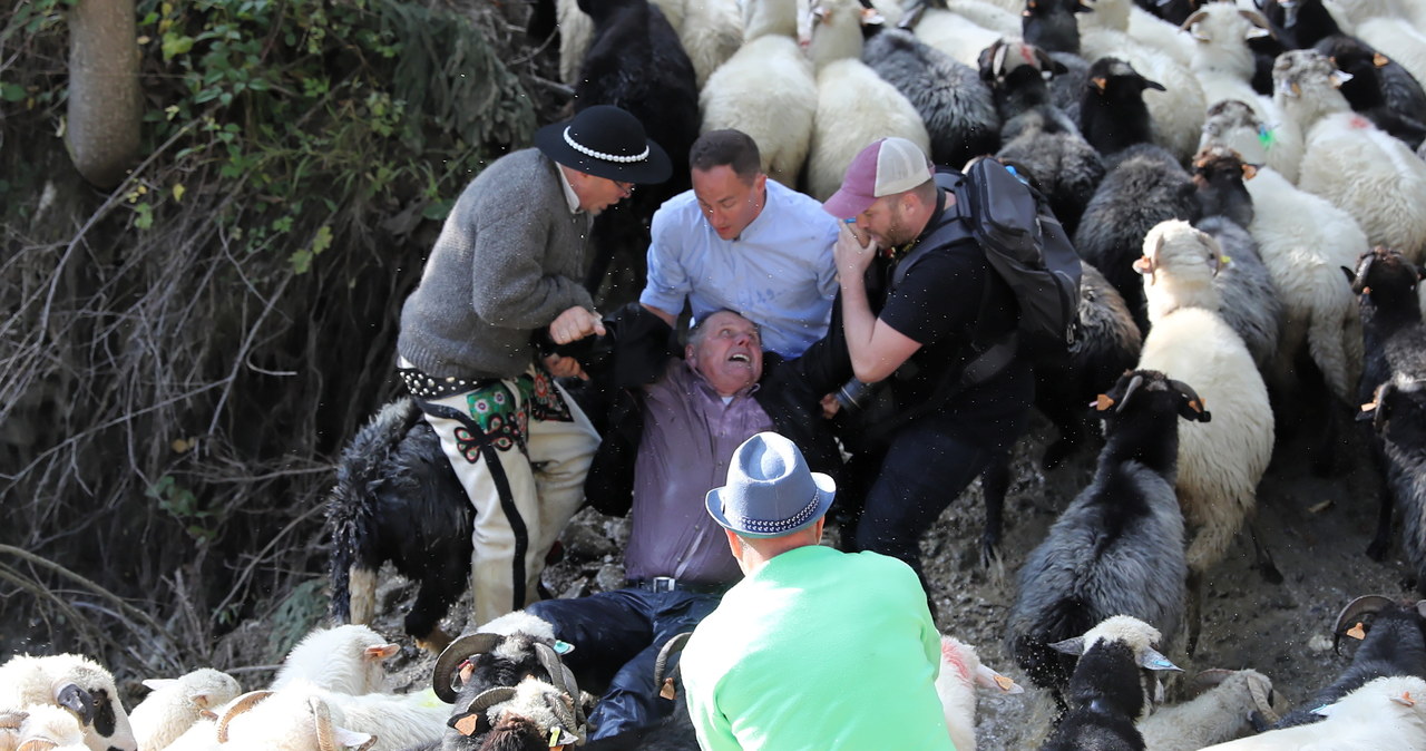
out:
<path id="1" fill-rule="evenodd" d="M 1352 664 L 1310 700 L 1282 715 L 1276 728 L 1320 721 L 1312 710 L 1335 704 L 1342 697 L 1383 675 L 1426 678 L 1426 600 L 1400 604 L 1390 597 L 1368 594 L 1348 603 L 1332 628 L 1333 648 L 1343 634 L 1362 638 Z"/>

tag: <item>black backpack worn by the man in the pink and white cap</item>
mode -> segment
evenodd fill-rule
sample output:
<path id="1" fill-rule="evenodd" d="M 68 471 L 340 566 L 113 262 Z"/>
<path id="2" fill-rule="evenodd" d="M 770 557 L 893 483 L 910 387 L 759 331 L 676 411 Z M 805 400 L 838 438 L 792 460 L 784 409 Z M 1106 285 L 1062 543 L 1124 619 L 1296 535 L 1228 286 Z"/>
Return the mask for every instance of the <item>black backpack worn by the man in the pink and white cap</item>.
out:
<path id="1" fill-rule="evenodd" d="M 981 383 L 1020 356 L 1031 363 L 1064 361 L 1079 321 L 1079 255 L 1040 191 L 994 158 L 967 171 L 937 171 L 935 184 L 955 195 L 931 234 L 897 264 L 896 286 L 918 254 L 973 237 L 985 261 L 1010 285 L 1020 306 L 1015 332 L 973 358 L 960 385 Z"/>

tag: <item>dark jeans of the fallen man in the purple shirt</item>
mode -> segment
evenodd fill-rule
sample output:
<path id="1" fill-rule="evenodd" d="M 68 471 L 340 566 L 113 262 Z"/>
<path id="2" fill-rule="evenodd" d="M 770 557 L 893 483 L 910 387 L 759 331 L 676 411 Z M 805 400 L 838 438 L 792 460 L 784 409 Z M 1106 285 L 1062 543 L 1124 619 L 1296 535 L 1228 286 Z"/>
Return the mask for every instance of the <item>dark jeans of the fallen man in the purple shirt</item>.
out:
<path id="1" fill-rule="evenodd" d="M 605 690 L 589 714 L 590 738 L 652 725 L 673 711 L 659 698 L 653 663 L 663 644 L 692 631 L 717 607 L 716 594 L 623 589 L 573 600 L 542 600 L 525 608 L 555 626 L 555 636 L 575 646 L 565 664 L 580 688 Z M 672 670 L 677 660 L 669 660 Z"/>

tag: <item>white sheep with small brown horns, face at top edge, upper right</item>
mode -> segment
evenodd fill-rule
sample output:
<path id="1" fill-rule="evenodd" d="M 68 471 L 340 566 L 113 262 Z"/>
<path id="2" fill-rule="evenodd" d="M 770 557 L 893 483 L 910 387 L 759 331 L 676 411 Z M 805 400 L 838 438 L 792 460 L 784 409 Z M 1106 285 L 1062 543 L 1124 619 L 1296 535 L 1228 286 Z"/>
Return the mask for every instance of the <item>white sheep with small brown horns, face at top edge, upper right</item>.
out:
<path id="1" fill-rule="evenodd" d="M 1219 101 L 1236 100 L 1252 108 L 1265 130 L 1252 134 L 1251 144 L 1229 144 L 1253 164 L 1272 167 L 1289 182 L 1298 181 L 1302 162 L 1302 131 L 1269 97 L 1252 87 L 1253 53 L 1248 40 L 1271 34 L 1268 21 L 1256 11 L 1232 3 L 1208 3 L 1184 21 L 1196 43 L 1189 68 L 1204 87 L 1209 108 Z M 1206 125 L 1206 123 L 1205 123 Z M 1205 145 L 1206 134 L 1199 145 Z M 1253 152 L 1241 151 L 1252 148 Z"/>

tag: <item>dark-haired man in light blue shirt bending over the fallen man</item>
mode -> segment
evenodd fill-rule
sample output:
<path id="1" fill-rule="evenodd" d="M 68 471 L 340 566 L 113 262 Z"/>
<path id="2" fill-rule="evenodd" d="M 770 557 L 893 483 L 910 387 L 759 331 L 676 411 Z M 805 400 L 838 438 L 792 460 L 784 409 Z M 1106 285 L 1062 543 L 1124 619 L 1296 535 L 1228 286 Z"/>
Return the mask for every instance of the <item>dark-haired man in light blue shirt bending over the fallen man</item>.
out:
<path id="1" fill-rule="evenodd" d="M 734 311 L 761 325 L 766 349 L 801 355 L 831 318 L 837 221 L 811 197 L 767 180 L 744 133 L 703 134 L 689 167 L 693 190 L 653 215 L 639 302 L 670 326 L 684 301 L 694 322 Z"/>

